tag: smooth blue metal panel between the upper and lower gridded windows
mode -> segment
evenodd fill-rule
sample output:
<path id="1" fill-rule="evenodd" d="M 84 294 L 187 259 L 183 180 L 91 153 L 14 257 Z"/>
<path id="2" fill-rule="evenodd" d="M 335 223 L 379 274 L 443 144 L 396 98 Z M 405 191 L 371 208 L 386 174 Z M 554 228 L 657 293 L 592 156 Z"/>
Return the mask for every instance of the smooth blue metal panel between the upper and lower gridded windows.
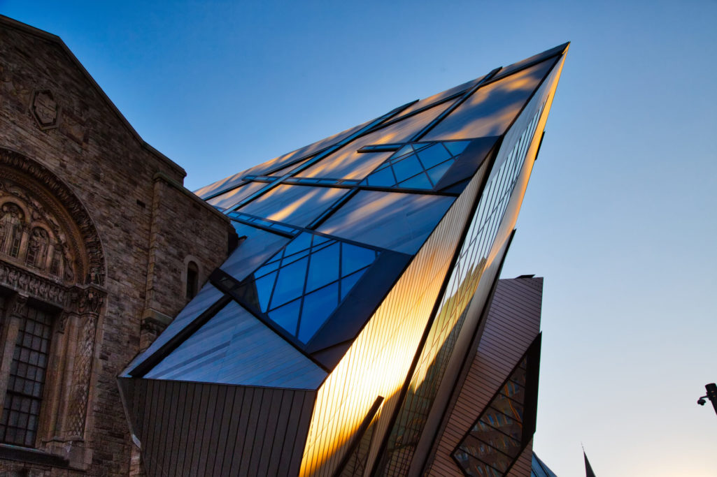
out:
<path id="1" fill-rule="evenodd" d="M 415 254 L 454 197 L 360 191 L 317 230 L 403 254 Z"/>

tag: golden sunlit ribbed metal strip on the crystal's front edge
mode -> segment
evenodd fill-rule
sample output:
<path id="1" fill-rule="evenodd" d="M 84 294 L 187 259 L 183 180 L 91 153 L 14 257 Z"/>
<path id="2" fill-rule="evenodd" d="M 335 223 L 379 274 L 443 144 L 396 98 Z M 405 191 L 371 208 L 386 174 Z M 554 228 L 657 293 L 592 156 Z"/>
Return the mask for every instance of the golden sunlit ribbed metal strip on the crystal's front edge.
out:
<path id="1" fill-rule="evenodd" d="M 301 466 L 303 476 L 332 476 L 377 396 L 368 461 L 378 451 L 435 301 L 478 193 L 483 169 L 442 218 L 334 368 L 317 395 Z"/>

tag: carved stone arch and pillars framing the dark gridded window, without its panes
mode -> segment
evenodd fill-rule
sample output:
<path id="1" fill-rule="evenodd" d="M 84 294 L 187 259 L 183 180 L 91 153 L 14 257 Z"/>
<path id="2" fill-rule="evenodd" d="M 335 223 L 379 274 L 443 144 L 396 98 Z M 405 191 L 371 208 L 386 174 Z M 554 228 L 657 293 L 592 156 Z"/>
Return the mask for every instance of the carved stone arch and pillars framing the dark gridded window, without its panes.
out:
<path id="1" fill-rule="evenodd" d="M 18 304 L 4 319 L 19 319 L 28 299 L 58 310 L 38 446 L 74 462 L 84 460 L 105 267 L 98 231 L 72 189 L 44 165 L 0 148 L 0 286 Z"/>

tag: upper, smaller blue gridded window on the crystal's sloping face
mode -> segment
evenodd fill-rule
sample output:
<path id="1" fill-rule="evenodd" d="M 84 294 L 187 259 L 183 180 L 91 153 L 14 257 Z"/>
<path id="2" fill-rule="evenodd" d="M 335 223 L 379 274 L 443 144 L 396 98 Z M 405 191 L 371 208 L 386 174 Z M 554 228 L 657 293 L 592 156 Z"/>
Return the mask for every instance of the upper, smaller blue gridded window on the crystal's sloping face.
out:
<path id="1" fill-rule="evenodd" d="M 399 149 L 362 186 L 433 189 L 470 141 L 413 143 Z"/>

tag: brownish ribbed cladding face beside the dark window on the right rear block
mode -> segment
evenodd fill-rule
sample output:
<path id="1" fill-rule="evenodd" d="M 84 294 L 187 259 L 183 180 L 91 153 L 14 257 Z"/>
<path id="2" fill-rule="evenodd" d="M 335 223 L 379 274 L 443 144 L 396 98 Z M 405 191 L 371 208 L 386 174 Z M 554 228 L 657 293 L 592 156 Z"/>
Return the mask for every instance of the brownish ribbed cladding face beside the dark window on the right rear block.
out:
<path id="1" fill-rule="evenodd" d="M 498 281 L 478 350 L 447 414 L 429 475 L 461 475 L 451 455 L 537 336 L 542 297 L 542 278 Z"/>

